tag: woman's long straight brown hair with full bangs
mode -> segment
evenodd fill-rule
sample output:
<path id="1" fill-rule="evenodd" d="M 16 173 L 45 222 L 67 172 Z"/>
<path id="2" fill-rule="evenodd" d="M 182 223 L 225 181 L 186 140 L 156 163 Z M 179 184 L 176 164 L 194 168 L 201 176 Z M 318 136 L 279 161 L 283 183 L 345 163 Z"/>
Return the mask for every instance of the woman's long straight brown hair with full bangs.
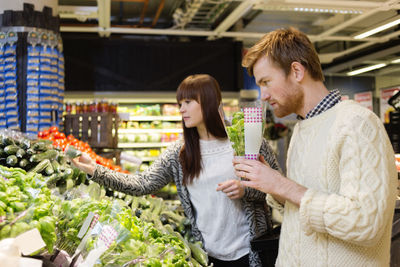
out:
<path id="1" fill-rule="evenodd" d="M 218 111 L 222 101 L 221 89 L 218 82 L 208 74 L 196 74 L 185 78 L 178 87 L 176 100 L 190 99 L 201 106 L 203 121 L 207 132 L 216 138 L 227 138 L 224 124 Z M 183 170 L 183 184 L 192 183 L 202 169 L 200 153 L 200 137 L 197 128 L 186 128 L 184 121 L 183 145 L 179 160 Z"/>

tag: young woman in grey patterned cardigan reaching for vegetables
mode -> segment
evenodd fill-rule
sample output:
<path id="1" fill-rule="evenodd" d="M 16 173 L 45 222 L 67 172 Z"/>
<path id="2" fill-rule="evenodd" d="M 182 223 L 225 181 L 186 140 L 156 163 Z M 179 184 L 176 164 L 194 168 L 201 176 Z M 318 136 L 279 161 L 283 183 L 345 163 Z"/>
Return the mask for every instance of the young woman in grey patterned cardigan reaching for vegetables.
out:
<path id="1" fill-rule="evenodd" d="M 241 186 L 232 165 L 233 149 L 219 113 L 221 91 L 206 74 L 191 75 L 178 87 L 183 140 L 172 144 L 140 174 L 113 172 L 86 157 L 73 160 L 93 181 L 131 195 L 157 192 L 174 181 L 192 233 L 203 242 L 214 266 L 261 266 L 250 240 L 269 230 L 265 194 Z M 264 140 L 260 154 L 274 169 Z"/>

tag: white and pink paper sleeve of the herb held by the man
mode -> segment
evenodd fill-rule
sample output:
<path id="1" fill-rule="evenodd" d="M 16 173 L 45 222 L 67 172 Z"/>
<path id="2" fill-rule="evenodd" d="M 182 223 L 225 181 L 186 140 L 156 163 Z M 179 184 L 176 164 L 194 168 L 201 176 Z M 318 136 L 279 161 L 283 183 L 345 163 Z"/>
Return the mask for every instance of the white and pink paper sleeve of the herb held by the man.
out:
<path id="1" fill-rule="evenodd" d="M 256 160 L 262 143 L 262 107 L 243 108 L 245 158 Z"/>

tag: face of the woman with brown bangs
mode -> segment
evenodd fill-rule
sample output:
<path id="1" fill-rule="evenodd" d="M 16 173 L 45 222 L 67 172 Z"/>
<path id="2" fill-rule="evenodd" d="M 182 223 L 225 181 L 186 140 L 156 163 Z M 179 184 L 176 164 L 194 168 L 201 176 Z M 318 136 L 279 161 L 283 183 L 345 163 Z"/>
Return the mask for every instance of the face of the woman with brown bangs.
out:
<path id="1" fill-rule="evenodd" d="M 200 103 L 194 99 L 182 99 L 179 106 L 186 128 L 204 126 Z"/>

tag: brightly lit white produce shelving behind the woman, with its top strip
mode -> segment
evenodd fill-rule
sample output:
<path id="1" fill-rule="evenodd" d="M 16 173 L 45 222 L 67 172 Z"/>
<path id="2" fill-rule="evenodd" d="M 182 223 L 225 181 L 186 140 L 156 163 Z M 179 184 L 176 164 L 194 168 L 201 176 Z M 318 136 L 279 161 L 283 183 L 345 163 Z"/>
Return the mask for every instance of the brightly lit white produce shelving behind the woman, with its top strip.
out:
<path id="1" fill-rule="evenodd" d="M 65 101 L 69 102 L 90 102 L 94 99 L 118 103 L 120 124 L 117 148 L 141 159 L 143 165 L 151 164 L 167 146 L 182 135 L 182 121 L 176 105 L 175 92 L 65 93 Z M 239 93 L 223 93 L 227 117 L 238 109 L 238 99 Z M 168 105 L 169 108 L 176 105 L 175 111 L 166 113 L 164 105 Z M 146 110 L 146 107 L 149 108 Z"/>

